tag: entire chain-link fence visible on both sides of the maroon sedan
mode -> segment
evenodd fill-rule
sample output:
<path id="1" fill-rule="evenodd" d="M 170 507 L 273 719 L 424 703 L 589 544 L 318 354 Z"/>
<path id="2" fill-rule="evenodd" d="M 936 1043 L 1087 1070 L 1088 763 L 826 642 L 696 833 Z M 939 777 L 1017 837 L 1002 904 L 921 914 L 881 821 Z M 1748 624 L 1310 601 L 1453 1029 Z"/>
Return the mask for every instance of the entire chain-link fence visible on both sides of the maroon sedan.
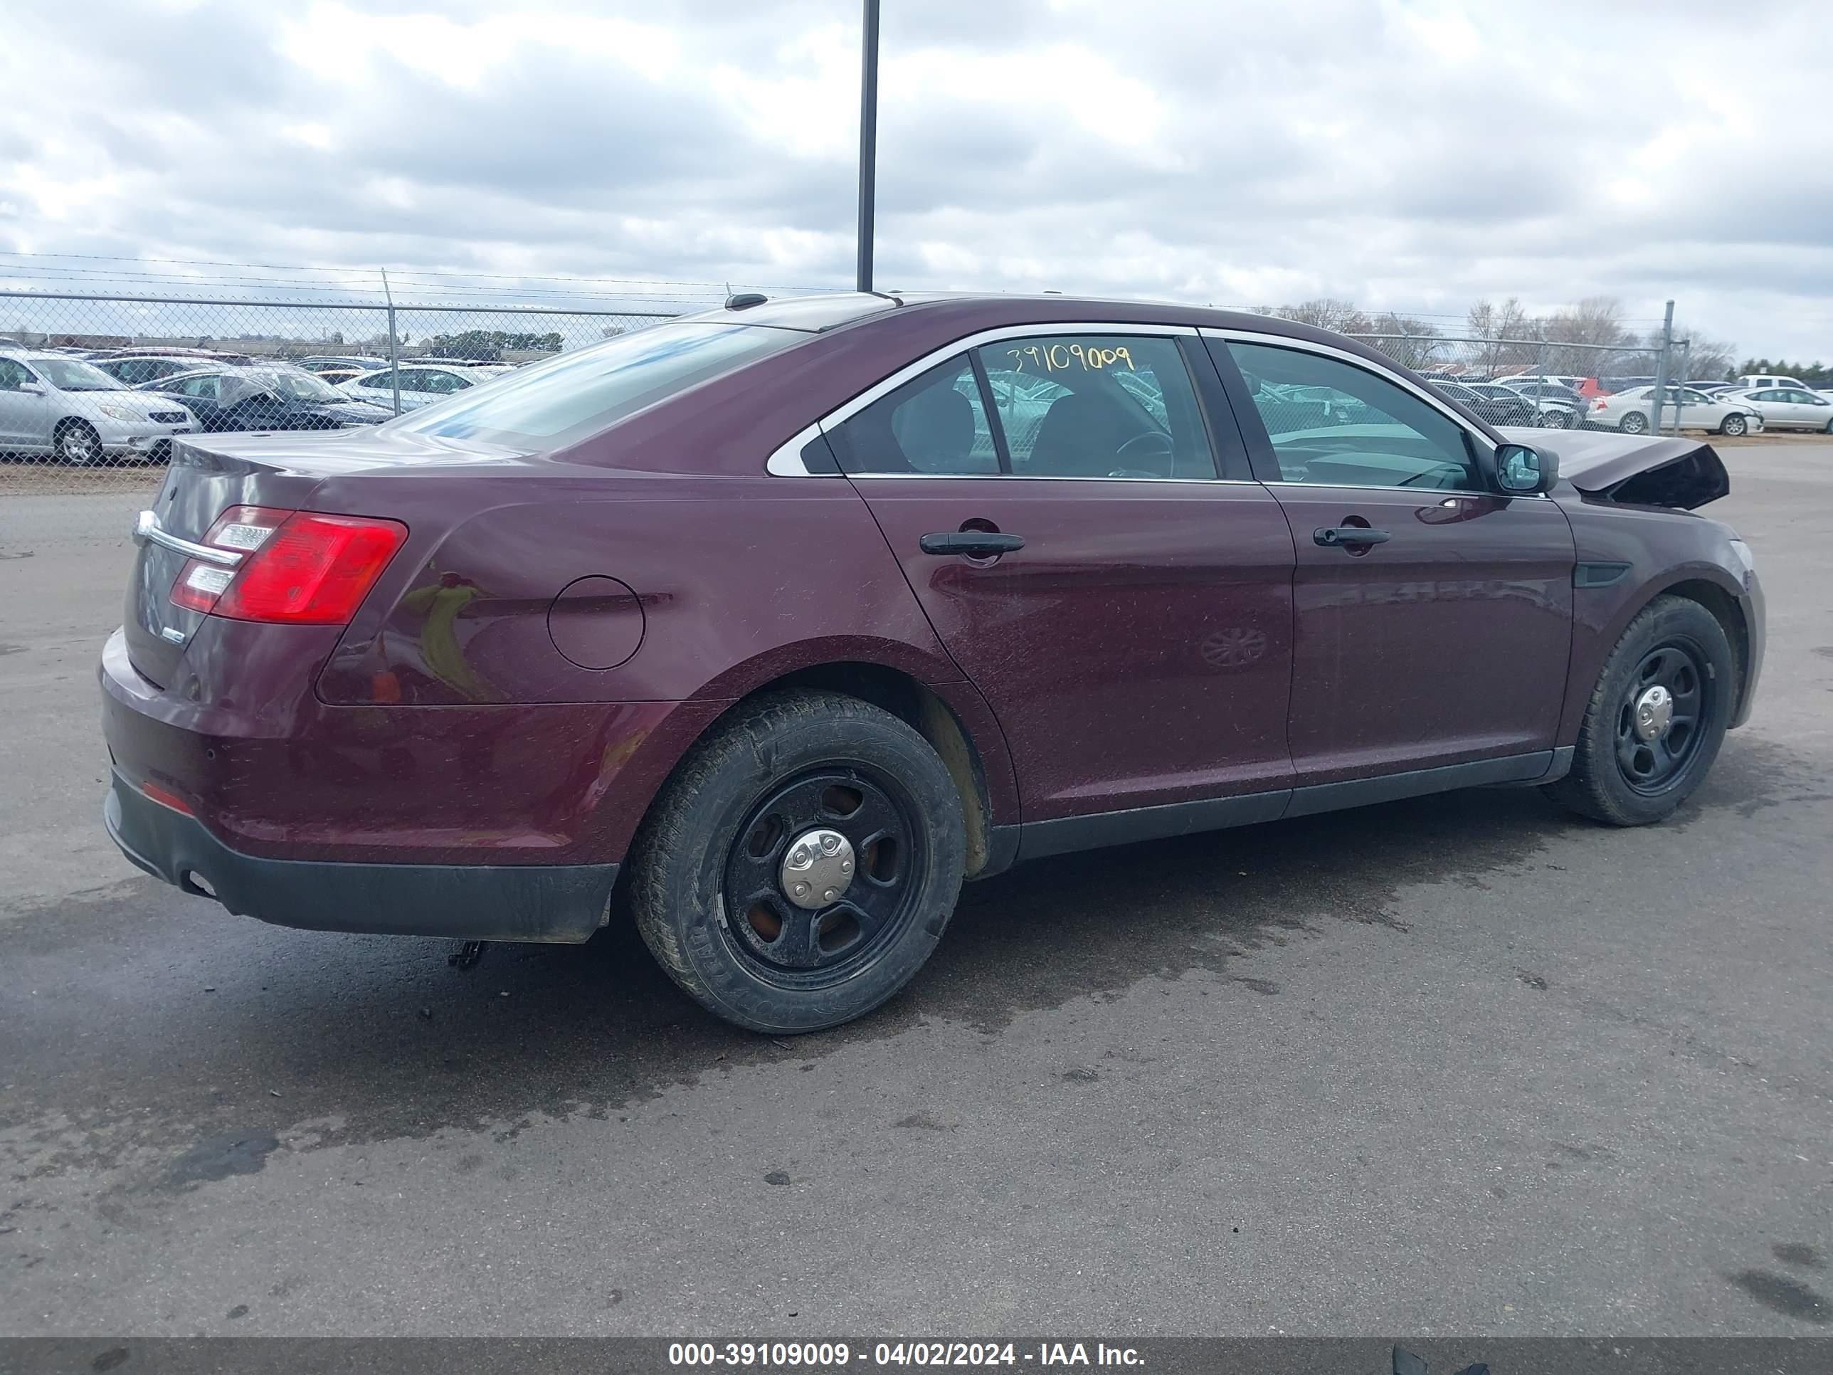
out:
<path id="1" fill-rule="evenodd" d="M 0 500 L 152 490 L 174 434 L 378 422 L 675 314 L 0 290 Z M 1613 427 L 1597 398 L 1688 380 L 1681 343 L 1664 365 L 1661 348 L 1543 332 L 1351 337 L 1492 424 Z"/>

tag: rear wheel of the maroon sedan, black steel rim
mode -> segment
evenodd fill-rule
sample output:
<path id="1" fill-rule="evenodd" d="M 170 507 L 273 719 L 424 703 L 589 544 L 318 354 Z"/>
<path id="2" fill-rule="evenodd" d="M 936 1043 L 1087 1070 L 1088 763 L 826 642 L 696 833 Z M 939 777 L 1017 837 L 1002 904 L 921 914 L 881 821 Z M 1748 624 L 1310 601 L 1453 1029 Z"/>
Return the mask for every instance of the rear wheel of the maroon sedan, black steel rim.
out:
<path id="1" fill-rule="evenodd" d="M 792 862 L 843 838 L 819 895 Z M 845 874 L 832 867 L 852 856 Z M 631 909 L 682 990 L 750 1030 L 860 1018 L 907 984 L 960 895 L 966 823 L 937 752 L 852 697 L 785 691 L 719 724 L 682 761 L 631 847 Z M 847 876 L 851 874 L 851 876 Z"/>

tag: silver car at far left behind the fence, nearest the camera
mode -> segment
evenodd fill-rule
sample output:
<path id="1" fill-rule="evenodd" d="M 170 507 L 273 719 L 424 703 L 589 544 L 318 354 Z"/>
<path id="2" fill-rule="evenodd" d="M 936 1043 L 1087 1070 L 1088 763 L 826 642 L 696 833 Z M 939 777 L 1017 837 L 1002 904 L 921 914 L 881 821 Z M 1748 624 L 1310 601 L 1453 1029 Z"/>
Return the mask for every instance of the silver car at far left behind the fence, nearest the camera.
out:
<path id="1" fill-rule="evenodd" d="M 163 396 L 121 387 L 70 354 L 0 352 L 0 451 L 49 453 L 86 468 L 110 460 L 165 462 L 174 434 L 196 418 Z"/>

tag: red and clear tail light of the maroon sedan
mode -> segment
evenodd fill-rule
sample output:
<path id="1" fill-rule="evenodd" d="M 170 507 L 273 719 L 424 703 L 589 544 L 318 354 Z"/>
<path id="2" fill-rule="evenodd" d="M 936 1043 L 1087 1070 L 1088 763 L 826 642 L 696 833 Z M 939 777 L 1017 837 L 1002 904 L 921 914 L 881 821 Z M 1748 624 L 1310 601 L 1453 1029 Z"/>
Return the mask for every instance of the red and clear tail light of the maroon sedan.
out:
<path id="1" fill-rule="evenodd" d="M 346 625 L 405 539 L 398 521 L 231 506 L 203 543 L 242 563 L 189 561 L 172 603 L 240 622 Z"/>

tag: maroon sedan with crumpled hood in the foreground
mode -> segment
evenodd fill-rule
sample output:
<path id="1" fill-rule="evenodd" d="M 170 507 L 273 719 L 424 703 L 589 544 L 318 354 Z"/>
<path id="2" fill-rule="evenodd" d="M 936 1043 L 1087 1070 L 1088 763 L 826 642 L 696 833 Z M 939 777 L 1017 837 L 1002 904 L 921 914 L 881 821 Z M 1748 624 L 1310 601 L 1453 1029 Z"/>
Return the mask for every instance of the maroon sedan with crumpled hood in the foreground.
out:
<path id="1" fill-rule="evenodd" d="M 1259 315 L 744 304 L 180 444 L 101 664 L 126 856 L 328 931 L 627 908 L 801 1032 L 962 878 L 1476 785 L 1657 821 L 1751 711 L 1697 440 L 1507 436 Z"/>

